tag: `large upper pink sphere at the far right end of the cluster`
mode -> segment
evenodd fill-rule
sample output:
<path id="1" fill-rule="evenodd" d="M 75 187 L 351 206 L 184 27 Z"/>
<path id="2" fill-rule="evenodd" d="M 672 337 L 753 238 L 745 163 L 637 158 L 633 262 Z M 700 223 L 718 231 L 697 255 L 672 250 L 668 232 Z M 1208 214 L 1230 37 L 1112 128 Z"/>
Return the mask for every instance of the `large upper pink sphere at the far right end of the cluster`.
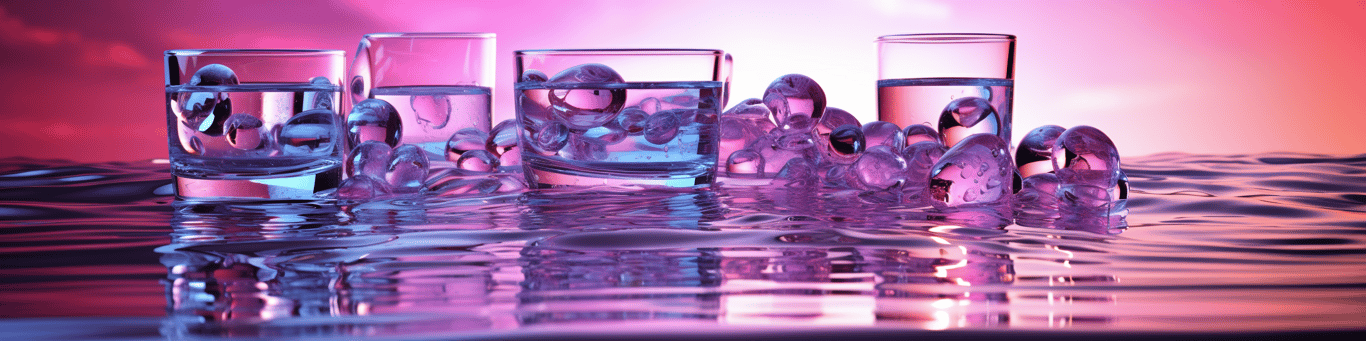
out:
<path id="1" fill-rule="evenodd" d="M 1053 172 L 1064 184 L 1111 188 L 1119 181 L 1119 150 L 1105 132 L 1076 125 L 1053 143 Z"/>

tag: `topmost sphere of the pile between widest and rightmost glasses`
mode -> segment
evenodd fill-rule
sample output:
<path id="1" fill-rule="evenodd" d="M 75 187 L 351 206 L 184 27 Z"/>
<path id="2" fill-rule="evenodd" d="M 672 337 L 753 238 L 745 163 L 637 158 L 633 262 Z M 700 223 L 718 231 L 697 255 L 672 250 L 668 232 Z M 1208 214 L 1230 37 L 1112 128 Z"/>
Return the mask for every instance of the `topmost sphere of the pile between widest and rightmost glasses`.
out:
<path id="1" fill-rule="evenodd" d="M 809 76 L 784 75 L 764 90 L 764 104 L 779 127 L 810 130 L 825 113 L 825 90 Z"/>

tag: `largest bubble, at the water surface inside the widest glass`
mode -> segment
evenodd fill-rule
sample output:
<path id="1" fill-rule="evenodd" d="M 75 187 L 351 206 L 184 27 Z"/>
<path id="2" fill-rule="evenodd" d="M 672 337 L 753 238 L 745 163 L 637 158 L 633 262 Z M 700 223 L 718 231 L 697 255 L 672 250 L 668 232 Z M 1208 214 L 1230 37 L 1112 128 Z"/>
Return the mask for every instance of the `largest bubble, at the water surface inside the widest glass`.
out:
<path id="1" fill-rule="evenodd" d="M 623 83 L 622 75 L 602 64 L 581 64 L 546 82 L 550 112 L 571 130 L 589 130 L 616 119 L 626 105 L 626 89 L 563 89 L 575 83 Z"/>

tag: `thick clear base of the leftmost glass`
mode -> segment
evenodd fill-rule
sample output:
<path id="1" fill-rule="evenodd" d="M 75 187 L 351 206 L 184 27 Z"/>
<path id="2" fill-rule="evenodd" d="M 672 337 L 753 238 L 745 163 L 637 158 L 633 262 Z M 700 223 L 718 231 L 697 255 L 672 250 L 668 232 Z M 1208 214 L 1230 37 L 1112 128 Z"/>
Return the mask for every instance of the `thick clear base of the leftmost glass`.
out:
<path id="1" fill-rule="evenodd" d="M 195 179 L 172 176 L 176 199 L 193 201 L 288 201 L 317 199 L 317 192 L 342 184 L 342 166 L 321 172 L 260 179 Z"/>

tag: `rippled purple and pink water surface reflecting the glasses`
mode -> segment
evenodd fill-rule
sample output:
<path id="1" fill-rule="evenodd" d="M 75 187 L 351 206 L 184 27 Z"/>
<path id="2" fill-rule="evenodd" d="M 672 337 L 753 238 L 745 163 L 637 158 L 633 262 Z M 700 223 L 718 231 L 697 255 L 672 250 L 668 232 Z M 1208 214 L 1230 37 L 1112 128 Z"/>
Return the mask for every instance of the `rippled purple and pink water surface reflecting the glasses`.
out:
<path id="1" fill-rule="evenodd" d="M 0 202 L 0 303 L 22 307 L 4 316 L 160 315 L 165 337 L 1335 330 L 1366 316 L 1366 157 L 1130 160 L 1123 233 L 734 184 L 169 203 L 161 168 L 0 168 L 0 194 L 18 198 Z"/>

